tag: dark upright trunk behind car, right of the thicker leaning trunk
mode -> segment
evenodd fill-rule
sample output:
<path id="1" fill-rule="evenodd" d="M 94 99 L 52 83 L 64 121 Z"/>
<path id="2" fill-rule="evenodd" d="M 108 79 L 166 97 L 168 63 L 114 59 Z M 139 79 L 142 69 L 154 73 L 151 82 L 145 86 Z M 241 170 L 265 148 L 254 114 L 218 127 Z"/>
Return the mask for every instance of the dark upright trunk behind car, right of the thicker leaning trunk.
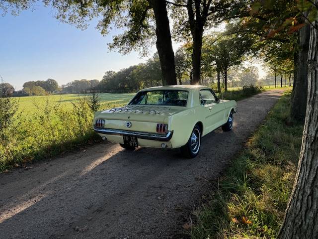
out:
<path id="1" fill-rule="evenodd" d="M 201 76 L 201 51 L 202 51 L 202 32 L 201 29 L 195 29 L 193 35 L 192 67 L 193 79 L 192 84 L 198 84 Z"/>

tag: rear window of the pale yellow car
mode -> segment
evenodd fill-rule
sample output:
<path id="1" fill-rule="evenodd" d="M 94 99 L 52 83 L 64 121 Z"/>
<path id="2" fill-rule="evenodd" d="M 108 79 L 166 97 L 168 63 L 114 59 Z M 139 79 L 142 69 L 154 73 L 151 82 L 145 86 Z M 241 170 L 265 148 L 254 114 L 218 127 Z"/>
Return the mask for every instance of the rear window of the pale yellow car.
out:
<path id="1" fill-rule="evenodd" d="M 187 106 L 188 92 L 159 90 L 139 92 L 129 105 Z"/>

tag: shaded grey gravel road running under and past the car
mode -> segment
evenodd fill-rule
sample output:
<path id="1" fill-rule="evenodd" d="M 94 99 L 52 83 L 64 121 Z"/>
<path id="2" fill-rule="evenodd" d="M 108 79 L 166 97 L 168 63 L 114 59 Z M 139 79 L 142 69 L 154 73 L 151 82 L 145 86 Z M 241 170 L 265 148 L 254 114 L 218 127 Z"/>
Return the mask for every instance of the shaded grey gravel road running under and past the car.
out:
<path id="1" fill-rule="evenodd" d="M 0 174 L 0 239 L 181 238 L 183 215 L 282 93 L 239 101 L 234 130 L 203 137 L 194 159 L 177 149 L 129 152 L 103 143 Z"/>

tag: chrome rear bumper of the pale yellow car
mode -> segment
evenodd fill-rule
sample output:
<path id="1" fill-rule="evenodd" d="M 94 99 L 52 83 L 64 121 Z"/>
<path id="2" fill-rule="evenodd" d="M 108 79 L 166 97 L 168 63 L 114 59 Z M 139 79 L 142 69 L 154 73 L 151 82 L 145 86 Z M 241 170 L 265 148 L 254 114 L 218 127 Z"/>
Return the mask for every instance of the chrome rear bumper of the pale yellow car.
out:
<path id="1" fill-rule="evenodd" d="M 93 127 L 97 133 L 102 134 L 112 134 L 112 135 L 132 135 L 138 138 L 157 140 L 157 141 L 169 141 L 172 137 L 173 131 L 168 131 L 166 134 L 160 133 L 147 133 L 147 132 L 138 132 L 138 131 L 129 131 L 113 128 L 97 128 Z"/>

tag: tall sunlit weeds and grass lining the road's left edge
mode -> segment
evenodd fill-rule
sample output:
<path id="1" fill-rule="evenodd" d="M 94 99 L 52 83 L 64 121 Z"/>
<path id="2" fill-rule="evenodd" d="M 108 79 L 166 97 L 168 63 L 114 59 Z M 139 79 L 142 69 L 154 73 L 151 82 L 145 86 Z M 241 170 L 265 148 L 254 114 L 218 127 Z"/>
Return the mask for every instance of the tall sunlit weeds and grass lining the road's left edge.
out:
<path id="1" fill-rule="evenodd" d="M 14 98 L 0 98 L 0 172 L 99 141 L 92 130 L 94 112 L 123 104 L 100 104 L 99 97 L 79 97 L 66 107 L 50 97 L 33 103 L 32 114 L 18 113 Z"/>

